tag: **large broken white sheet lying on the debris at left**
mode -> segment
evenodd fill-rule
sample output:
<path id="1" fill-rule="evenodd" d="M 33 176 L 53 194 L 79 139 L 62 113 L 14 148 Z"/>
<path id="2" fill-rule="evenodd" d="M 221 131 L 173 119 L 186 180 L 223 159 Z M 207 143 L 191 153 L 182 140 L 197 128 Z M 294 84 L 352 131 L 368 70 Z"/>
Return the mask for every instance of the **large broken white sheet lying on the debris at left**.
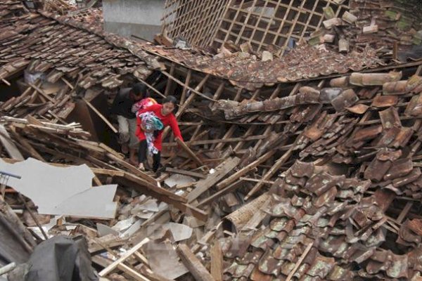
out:
<path id="1" fill-rule="evenodd" d="M 30 198 L 39 214 L 114 218 L 117 185 L 92 187 L 94 173 L 89 166 L 58 167 L 37 159 L 9 164 L 0 159 L 0 171 L 21 176 L 7 185 Z"/>

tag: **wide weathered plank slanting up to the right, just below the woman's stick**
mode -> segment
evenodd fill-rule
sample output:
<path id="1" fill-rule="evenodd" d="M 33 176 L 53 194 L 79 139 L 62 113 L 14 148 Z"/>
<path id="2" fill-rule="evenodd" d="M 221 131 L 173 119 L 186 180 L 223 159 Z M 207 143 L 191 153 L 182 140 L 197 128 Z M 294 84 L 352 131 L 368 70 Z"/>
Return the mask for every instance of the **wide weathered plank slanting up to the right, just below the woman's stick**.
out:
<path id="1" fill-rule="evenodd" d="M 220 181 L 226 174 L 229 174 L 230 171 L 239 164 L 241 159 L 238 157 L 232 157 L 226 159 L 222 164 L 219 164 L 215 168 L 215 173 L 207 176 L 207 178 L 203 179 L 202 181 L 198 181 L 195 184 L 196 188 L 188 194 L 188 202 L 192 202 L 196 200 L 196 198 L 200 197 L 205 191 L 212 188 L 218 181 Z"/>

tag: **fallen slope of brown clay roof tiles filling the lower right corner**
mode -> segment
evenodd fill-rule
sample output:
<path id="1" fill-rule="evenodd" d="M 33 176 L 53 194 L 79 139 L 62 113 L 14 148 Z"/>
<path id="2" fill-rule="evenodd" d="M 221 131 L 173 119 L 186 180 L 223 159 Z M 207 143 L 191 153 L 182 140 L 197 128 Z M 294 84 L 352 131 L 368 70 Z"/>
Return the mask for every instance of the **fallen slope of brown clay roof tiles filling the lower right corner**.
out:
<path id="1" fill-rule="evenodd" d="M 316 169 L 295 162 L 270 192 L 265 227 L 227 239 L 225 280 L 418 280 L 422 249 L 411 233 L 421 221 L 402 224 L 397 243 L 407 247 L 397 251 L 383 227 L 386 191 L 365 196 L 371 181 Z"/>

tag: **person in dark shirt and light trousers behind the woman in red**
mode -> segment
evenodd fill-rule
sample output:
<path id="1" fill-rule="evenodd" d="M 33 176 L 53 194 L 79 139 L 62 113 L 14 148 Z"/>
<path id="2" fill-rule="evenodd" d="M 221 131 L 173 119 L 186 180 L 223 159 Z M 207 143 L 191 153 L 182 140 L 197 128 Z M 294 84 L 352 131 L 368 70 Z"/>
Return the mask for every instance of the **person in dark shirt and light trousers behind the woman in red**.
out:
<path id="1" fill-rule="evenodd" d="M 137 165 L 136 150 L 138 138 L 136 138 L 136 114 L 132 112 L 132 105 L 139 100 L 148 97 L 146 86 L 135 84 L 132 88 L 120 89 L 111 106 L 111 114 L 117 115 L 119 123 L 119 143 L 122 145 L 122 152 L 129 152 L 129 162 Z"/>

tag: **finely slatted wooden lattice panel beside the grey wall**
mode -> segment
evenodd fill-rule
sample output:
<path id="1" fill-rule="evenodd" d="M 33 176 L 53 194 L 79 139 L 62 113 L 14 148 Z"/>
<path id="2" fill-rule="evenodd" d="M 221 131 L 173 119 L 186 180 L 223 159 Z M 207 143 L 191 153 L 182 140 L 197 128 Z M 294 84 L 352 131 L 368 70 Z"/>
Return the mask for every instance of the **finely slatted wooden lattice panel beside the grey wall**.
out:
<path id="1" fill-rule="evenodd" d="M 192 46 L 208 46 L 230 0 L 167 0 L 162 27 L 171 38 L 183 37 Z"/>

